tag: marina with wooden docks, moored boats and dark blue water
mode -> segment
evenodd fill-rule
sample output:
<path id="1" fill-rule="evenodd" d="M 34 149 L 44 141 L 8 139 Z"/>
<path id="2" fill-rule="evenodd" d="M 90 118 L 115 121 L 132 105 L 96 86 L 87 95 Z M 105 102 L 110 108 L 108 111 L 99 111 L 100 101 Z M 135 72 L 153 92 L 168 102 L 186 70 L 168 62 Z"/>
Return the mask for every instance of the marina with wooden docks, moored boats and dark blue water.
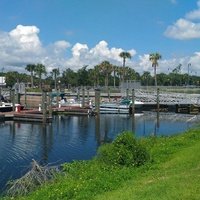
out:
<path id="1" fill-rule="evenodd" d="M 11 102 L 12 111 L 0 112 L 2 191 L 9 179 L 29 169 L 32 159 L 52 165 L 87 160 L 125 130 L 136 137 L 168 136 L 199 121 L 199 95 L 177 97 L 159 89 L 148 94 L 140 90 L 84 94 L 63 93 L 60 98 L 58 93 L 54 103 L 51 93 L 21 94 L 17 104 Z"/>

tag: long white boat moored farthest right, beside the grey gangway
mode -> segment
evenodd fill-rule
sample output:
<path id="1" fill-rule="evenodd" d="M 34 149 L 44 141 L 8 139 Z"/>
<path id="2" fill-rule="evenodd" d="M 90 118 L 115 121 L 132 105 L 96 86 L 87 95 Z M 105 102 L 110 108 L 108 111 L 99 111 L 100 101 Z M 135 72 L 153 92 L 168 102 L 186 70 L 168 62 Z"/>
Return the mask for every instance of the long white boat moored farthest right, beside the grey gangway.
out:
<path id="1" fill-rule="evenodd" d="M 143 105 L 143 102 L 134 102 L 136 112 Z M 100 113 L 107 114 L 130 114 L 132 113 L 132 101 L 129 99 L 122 99 L 119 102 L 103 102 L 100 103 Z"/>

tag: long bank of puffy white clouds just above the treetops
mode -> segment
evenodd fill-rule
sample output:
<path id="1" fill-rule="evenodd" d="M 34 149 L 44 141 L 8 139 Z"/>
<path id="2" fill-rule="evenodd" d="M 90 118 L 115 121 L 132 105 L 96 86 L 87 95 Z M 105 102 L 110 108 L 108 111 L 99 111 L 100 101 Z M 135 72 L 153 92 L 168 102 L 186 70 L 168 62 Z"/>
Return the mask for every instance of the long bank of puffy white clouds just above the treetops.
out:
<path id="1" fill-rule="evenodd" d="M 60 71 L 67 68 L 76 71 L 84 65 L 92 68 L 104 60 L 121 66 L 122 58 L 119 57 L 119 54 L 122 51 L 128 51 L 132 55 L 132 59 L 126 61 L 127 66 L 134 68 L 140 74 L 144 71 L 153 72 L 148 54 L 136 57 L 135 49 L 124 50 L 109 47 L 104 40 L 93 47 L 81 43 L 71 45 L 65 40 L 55 41 L 44 46 L 40 41 L 39 29 L 36 26 L 19 25 L 10 32 L 0 32 L 0 68 L 4 67 L 5 71 L 26 72 L 25 66 L 30 63 L 42 63 L 47 67 L 47 71 L 51 71 L 55 67 L 59 67 Z M 200 53 L 198 52 L 191 58 L 160 60 L 158 73 L 168 73 L 169 66 L 173 68 L 179 63 L 187 66 L 188 62 L 195 70 L 199 65 L 199 60 Z M 187 72 L 187 67 L 184 70 Z"/>

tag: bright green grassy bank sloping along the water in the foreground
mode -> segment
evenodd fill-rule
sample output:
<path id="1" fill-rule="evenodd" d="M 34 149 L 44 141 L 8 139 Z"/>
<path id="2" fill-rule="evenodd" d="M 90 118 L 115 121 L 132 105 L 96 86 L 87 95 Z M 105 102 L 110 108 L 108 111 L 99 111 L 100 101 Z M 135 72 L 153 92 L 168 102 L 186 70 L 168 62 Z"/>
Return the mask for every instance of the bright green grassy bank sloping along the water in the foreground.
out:
<path id="1" fill-rule="evenodd" d="M 13 199 L 200 199 L 200 130 L 140 143 L 151 156 L 143 166 L 111 166 L 96 159 L 65 164 L 55 180 Z"/>

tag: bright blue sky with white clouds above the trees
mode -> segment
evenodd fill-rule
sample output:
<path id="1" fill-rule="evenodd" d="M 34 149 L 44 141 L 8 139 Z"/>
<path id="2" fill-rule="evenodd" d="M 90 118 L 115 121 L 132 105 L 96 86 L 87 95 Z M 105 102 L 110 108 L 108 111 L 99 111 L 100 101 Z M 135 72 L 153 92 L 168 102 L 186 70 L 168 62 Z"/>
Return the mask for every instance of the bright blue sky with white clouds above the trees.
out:
<path id="1" fill-rule="evenodd" d="M 0 71 L 121 66 L 122 51 L 141 74 L 159 52 L 158 73 L 200 75 L 200 0 L 0 0 Z"/>

